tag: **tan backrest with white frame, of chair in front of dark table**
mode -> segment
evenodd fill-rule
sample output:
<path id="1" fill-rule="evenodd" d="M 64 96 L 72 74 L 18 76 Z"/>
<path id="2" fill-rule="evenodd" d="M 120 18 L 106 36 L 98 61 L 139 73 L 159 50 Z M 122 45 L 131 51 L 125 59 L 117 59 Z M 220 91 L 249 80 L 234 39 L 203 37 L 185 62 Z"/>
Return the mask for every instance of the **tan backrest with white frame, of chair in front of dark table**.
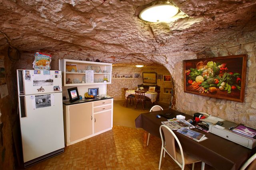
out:
<path id="1" fill-rule="evenodd" d="M 184 169 L 184 167 L 185 167 L 184 154 L 183 154 L 183 150 L 182 150 L 179 139 L 173 133 L 173 131 L 169 127 L 167 127 L 166 125 L 161 125 L 159 131 L 160 131 L 160 136 L 161 136 L 161 140 L 162 140 L 162 146 L 164 146 L 164 139 L 165 139 L 165 144 L 166 144 L 165 150 L 166 150 L 166 152 L 180 166 L 180 168 Z M 163 139 L 162 131 L 164 132 L 164 139 Z M 180 155 L 181 155 L 181 158 L 182 158 L 182 164 L 180 164 L 177 160 L 175 140 L 178 143 L 178 146 L 180 148 Z"/>

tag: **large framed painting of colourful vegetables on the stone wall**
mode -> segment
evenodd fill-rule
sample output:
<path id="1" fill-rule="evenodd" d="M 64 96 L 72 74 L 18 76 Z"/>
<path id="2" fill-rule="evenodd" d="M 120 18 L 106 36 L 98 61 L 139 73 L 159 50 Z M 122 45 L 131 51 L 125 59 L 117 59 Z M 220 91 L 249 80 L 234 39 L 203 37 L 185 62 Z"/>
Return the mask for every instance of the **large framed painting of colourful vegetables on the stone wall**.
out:
<path id="1" fill-rule="evenodd" d="M 247 55 L 184 60 L 184 92 L 243 102 Z"/>

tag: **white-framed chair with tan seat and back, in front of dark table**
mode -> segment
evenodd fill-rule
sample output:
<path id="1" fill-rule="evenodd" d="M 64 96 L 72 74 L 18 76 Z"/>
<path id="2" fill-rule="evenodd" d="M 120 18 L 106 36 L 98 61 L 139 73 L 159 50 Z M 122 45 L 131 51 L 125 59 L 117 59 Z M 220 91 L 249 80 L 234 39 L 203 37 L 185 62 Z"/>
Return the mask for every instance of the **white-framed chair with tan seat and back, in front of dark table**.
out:
<path id="1" fill-rule="evenodd" d="M 186 152 L 183 152 L 180 141 L 176 137 L 176 135 L 173 133 L 173 131 L 168 128 L 166 125 L 161 125 L 159 128 L 161 140 L 162 140 L 162 149 L 161 149 L 161 155 L 159 160 L 159 167 L 160 170 L 161 167 L 161 161 L 162 161 L 162 154 L 163 150 L 164 153 L 168 153 L 169 156 L 176 162 L 182 170 L 184 170 L 184 167 L 186 164 L 192 164 L 192 170 L 194 170 L 194 163 L 195 162 L 201 162 L 200 160 L 186 154 Z M 164 139 L 162 135 L 162 131 L 164 132 Z M 178 147 L 175 147 L 175 140 L 178 143 Z M 164 154 L 165 157 L 165 154 Z M 202 168 L 201 170 L 204 170 L 204 162 L 202 162 Z"/>

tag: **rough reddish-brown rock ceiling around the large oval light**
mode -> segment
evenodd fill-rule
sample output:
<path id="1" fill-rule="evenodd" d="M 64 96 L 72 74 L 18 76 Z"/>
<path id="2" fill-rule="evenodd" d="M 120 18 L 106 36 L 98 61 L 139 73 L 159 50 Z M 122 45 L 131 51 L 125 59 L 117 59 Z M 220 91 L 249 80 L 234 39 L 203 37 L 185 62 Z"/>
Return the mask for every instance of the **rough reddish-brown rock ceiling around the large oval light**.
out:
<path id="1" fill-rule="evenodd" d="M 92 56 L 120 64 L 154 63 L 181 51 L 256 39 L 256 0 L 174 0 L 188 17 L 172 23 L 140 20 L 141 6 L 150 2 L 0 0 L 0 31 L 20 51 L 61 53 L 67 59 Z"/>

